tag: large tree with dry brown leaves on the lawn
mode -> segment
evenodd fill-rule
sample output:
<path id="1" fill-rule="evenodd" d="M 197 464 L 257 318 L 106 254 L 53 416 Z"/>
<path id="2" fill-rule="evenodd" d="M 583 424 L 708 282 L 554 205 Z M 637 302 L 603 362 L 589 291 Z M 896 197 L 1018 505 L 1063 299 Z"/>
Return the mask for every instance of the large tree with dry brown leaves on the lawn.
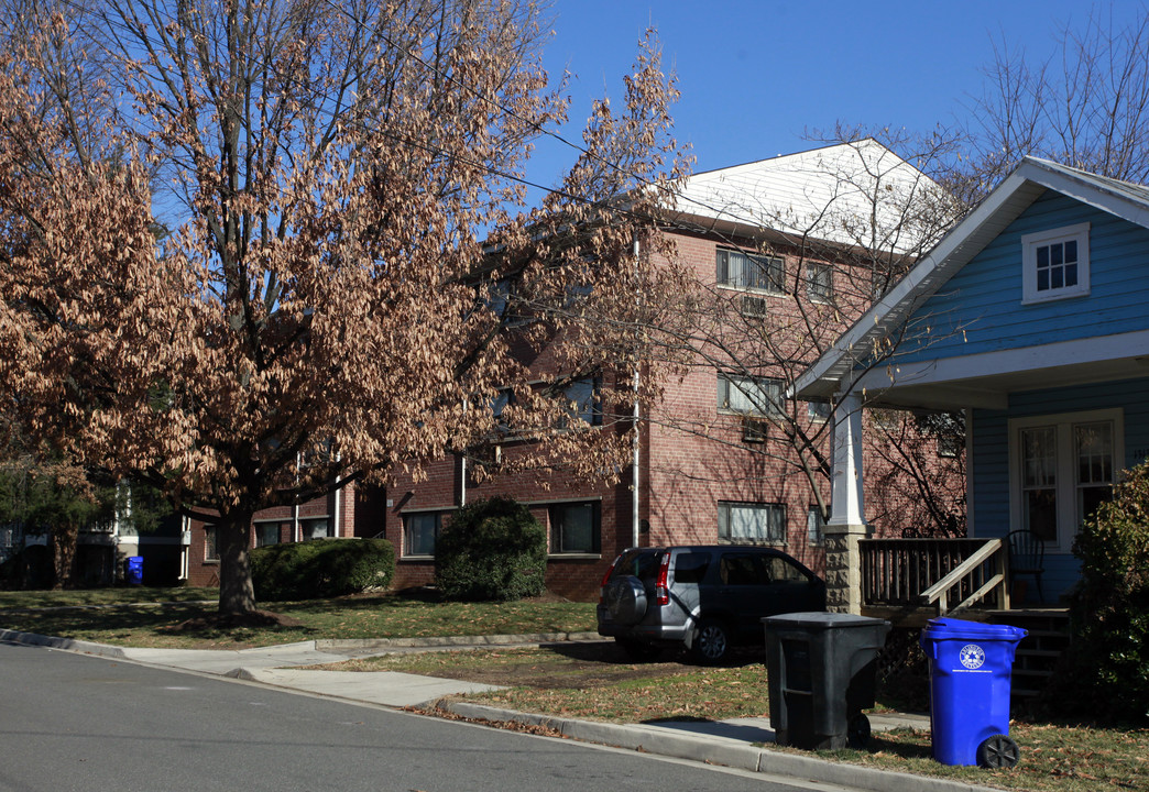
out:
<path id="1" fill-rule="evenodd" d="M 673 288 L 633 243 L 678 168 L 674 91 L 641 49 L 625 107 L 596 106 L 524 211 L 531 140 L 565 112 L 539 20 L 154 0 L 7 22 L 0 404 L 215 523 L 222 614 L 255 607 L 255 511 L 479 447 L 508 388 L 538 464 L 603 475 L 625 452 L 555 429 L 573 378 L 647 357 L 635 327 Z M 543 343 L 563 374 L 538 387 L 516 350 Z"/>

